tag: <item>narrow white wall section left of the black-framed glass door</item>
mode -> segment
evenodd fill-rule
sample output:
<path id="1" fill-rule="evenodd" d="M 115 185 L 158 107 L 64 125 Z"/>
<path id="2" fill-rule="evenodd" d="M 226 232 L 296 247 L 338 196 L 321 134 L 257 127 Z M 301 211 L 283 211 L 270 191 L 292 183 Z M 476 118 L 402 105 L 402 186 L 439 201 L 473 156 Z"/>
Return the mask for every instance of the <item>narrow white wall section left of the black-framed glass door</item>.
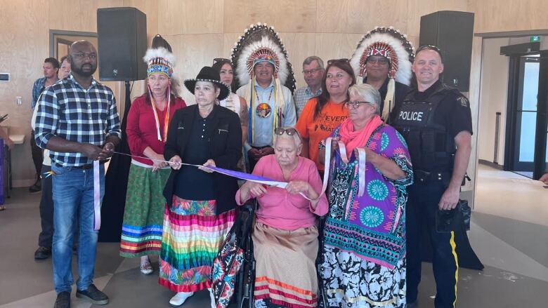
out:
<path id="1" fill-rule="evenodd" d="M 483 62 L 481 65 L 478 159 L 493 161 L 495 117 L 496 112 L 500 112 L 499 153 L 497 161 L 501 166 L 504 164 L 509 57 L 500 55 L 500 47 L 509 44 L 508 38 L 483 39 Z"/>

